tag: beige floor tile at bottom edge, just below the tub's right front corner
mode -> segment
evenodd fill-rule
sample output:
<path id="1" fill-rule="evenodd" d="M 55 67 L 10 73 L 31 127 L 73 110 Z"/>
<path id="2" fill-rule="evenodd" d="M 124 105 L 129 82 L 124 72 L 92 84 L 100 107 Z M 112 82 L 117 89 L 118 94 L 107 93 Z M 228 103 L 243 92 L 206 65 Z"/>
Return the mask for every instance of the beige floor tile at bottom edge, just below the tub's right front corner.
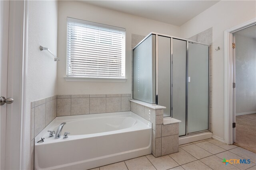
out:
<path id="1" fill-rule="evenodd" d="M 155 170 L 146 156 L 124 161 L 129 170 Z"/>

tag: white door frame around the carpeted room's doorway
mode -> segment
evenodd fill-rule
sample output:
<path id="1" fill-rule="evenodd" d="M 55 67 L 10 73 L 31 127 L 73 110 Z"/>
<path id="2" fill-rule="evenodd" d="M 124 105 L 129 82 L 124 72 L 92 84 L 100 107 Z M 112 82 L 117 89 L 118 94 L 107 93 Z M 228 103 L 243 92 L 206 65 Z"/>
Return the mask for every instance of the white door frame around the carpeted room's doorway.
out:
<path id="1" fill-rule="evenodd" d="M 224 141 L 226 144 L 234 143 L 234 54 L 233 33 L 256 24 L 256 18 L 236 25 L 224 31 Z"/>

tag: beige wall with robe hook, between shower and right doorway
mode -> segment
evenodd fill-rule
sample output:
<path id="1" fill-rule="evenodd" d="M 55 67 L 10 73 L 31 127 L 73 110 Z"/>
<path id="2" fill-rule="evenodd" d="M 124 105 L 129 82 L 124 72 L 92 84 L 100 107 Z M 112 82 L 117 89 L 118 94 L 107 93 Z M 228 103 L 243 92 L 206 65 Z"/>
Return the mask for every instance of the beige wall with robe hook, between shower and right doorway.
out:
<path id="1" fill-rule="evenodd" d="M 224 31 L 256 17 L 255 1 L 220 1 L 180 27 L 188 38 L 212 27 L 212 131 L 224 140 Z M 219 51 L 215 51 L 220 46 Z"/>

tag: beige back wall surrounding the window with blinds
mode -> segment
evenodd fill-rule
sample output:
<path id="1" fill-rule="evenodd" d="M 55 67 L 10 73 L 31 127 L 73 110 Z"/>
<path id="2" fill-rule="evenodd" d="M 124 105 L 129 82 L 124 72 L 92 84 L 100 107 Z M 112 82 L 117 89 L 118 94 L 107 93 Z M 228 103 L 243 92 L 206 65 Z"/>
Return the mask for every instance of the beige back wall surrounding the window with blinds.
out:
<path id="1" fill-rule="evenodd" d="M 62 94 L 128 94 L 131 92 L 131 35 L 159 32 L 180 36 L 180 27 L 78 1 L 59 1 L 58 6 L 57 93 Z M 66 20 L 67 17 L 87 20 L 126 29 L 126 82 L 66 82 Z"/>

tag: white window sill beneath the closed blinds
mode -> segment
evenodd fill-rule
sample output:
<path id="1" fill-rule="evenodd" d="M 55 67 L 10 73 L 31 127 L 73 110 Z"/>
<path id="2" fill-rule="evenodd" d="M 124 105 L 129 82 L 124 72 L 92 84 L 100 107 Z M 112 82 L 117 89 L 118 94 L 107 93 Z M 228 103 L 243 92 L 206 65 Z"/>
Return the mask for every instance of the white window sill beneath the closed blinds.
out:
<path id="1" fill-rule="evenodd" d="M 127 78 L 64 77 L 66 82 L 126 82 Z"/>

